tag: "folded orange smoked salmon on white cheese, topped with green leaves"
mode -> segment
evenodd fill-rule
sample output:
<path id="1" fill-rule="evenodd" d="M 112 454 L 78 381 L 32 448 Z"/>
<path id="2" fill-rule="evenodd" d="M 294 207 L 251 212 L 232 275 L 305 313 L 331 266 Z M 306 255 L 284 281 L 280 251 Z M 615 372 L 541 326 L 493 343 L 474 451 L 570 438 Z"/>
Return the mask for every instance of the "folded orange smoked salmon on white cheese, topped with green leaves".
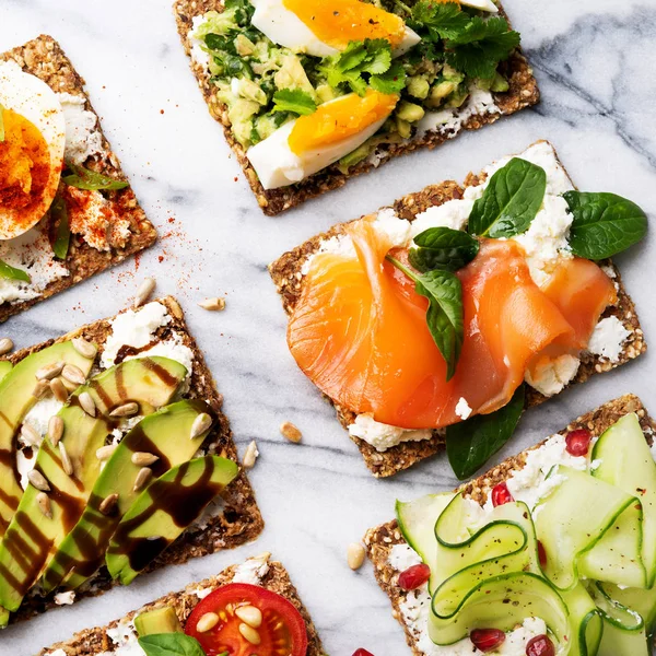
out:
<path id="1" fill-rule="evenodd" d="M 374 218 L 345 227 L 355 247 L 321 253 L 309 266 L 288 328 L 301 370 L 337 405 L 405 429 L 461 421 L 464 398 L 476 413 L 505 406 L 529 362 L 585 348 L 612 281 L 594 262 L 564 260 L 540 289 L 512 239 L 482 239 L 457 276 L 462 284 L 465 339 L 453 378 L 425 320 L 427 300 L 385 260 L 389 237 Z M 407 263 L 407 250 L 395 249 Z"/>

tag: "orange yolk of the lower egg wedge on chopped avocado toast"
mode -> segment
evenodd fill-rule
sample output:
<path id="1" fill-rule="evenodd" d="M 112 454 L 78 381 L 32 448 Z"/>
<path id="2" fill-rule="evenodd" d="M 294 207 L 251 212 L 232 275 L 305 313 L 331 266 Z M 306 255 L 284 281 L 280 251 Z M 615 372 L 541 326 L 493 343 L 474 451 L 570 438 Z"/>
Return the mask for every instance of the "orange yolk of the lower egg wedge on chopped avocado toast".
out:
<path id="1" fill-rule="evenodd" d="M 338 143 L 389 116 L 398 101 L 398 95 L 370 89 L 364 97 L 351 93 L 320 105 L 314 114 L 296 119 L 288 140 L 290 149 L 298 155 Z"/>

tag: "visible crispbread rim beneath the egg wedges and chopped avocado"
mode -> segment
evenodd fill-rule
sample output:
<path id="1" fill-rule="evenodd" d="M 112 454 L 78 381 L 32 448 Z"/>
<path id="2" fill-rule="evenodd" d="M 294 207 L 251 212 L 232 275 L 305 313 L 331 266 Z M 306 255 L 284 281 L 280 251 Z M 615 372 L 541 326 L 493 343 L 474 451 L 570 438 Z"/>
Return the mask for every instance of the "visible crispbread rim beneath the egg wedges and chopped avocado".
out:
<path id="1" fill-rule="evenodd" d="M 221 0 L 176 0 L 173 9 L 185 51 L 190 56 L 192 44 L 189 38 L 189 33 L 192 28 L 194 17 L 202 15 L 210 10 L 222 12 L 224 8 Z M 500 15 L 505 16 L 501 7 Z M 532 70 L 519 49 L 517 49 L 503 65 L 503 72 L 508 78 L 509 90 L 505 93 L 493 94 L 494 103 L 500 110 L 484 115 L 475 115 L 462 124 L 461 129 L 478 130 L 485 125 L 499 120 L 502 116 L 515 114 L 520 109 L 535 105 L 539 101 L 540 93 Z M 261 186 L 255 169 L 246 157 L 244 148 L 236 141 L 232 133 L 227 107 L 216 97 L 209 72 L 203 66 L 200 66 L 194 60 L 191 60 L 191 70 L 196 75 L 210 114 L 223 125 L 225 139 L 236 154 L 237 161 L 244 169 L 246 179 L 248 180 L 259 206 L 262 208 L 263 212 L 270 216 L 280 214 L 280 212 L 284 212 L 309 198 L 314 198 L 332 189 L 338 189 L 345 185 L 350 178 L 362 173 L 367 173 L 372 168 L 377 168 L 395 157 L 420 148 L 434 149 L 457 134 L 457 132 L 441 133 L 433 131 L 401 143 L 385 144 L 385 151 L 380 154 L 375 164 L 365 160 L 352 167 L 348 174 L 341 173 L 337 168 L 337 165 L 332 165 L 295 185 L 266 190 Z"/>

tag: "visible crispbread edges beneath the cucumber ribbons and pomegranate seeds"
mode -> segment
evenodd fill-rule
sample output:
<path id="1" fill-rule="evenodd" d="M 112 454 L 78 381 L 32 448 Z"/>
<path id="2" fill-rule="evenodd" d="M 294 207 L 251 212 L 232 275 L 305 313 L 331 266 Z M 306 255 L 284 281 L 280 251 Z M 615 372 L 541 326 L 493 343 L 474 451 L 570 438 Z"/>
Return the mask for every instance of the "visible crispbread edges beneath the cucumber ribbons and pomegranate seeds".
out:
<path id="1" fill-rule="evenodd" d="M 587 429 L 594 436 L 599 436 L 604 431 L 609 429 L 629 412 L 635 412 L 637 414 L 645 433 L 645 440 L 652 444 L 654 431 L 656 430 L 656 421 L 647 414 L 642 401 L 631 394 L 609 401 L 608 403 L 604 403 L 604 406 L 600 406 L 596 410 L 579 417 L 560 431 L 560 433 L 565 434 L 575 429 Z M 529 450 L 539 448 L 542 444 L 543 442 L 517 456 L 508 458 L 473 481 L 465 483 L 458 490 L 461 490 L 467 496 L 482 505 L 485 503 L 492 488 L 496 483 L 506 480 L 512 471 L 522 469 L 526 462 L 526 456 Z M 371 528 L 366 531 L 364 537 L 366 553 L 374 565 L 376 581 L 391 601 L 394 618 L 403 626 L 406 641 L 412 649 L 412 654 L 414 654 L 414 656 L 424 656 L 424 653 L 420 652 L 417 646 L 417 636 L 413 634 L 411 628 L 403 622 L 400 604 L 408 593 L 401 590 L 398 586 L 398 572 L 389 564 L 389 554 L 393 547 L 395 544 L 405 543 L 406 541 L 401 536 L 396 519 L 383 524 L 382 526 L 377 526 L 376 528 Z"/>

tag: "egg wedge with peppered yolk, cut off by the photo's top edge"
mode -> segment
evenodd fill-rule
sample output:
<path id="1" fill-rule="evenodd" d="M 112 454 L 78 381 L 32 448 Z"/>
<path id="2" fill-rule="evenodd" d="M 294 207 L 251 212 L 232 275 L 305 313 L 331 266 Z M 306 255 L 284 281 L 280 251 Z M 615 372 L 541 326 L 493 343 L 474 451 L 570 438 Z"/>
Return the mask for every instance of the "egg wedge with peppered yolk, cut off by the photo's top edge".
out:
<path id="1" fill-rule="evenodd" d="M 273 43 L 314 57 L 337 55 L 352 40 L 385 38 L 395 56 L 421 39 L 400 16 L 360 0 L 253 0 L 253 25 Z"/>

